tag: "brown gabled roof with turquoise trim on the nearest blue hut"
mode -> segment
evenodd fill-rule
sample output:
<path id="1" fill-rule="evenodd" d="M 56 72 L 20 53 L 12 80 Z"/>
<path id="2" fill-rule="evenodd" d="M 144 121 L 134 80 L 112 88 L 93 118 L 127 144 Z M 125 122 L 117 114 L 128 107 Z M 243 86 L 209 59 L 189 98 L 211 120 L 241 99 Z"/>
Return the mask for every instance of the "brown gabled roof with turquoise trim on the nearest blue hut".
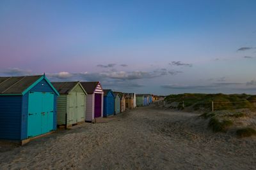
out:
<path id="1" fill-rule="evenodd" d="M 0 77 L 0 95 L 24 95 L 43 79 L 59 95 L 58 91 L 52 86 L 45 75 Z"/>

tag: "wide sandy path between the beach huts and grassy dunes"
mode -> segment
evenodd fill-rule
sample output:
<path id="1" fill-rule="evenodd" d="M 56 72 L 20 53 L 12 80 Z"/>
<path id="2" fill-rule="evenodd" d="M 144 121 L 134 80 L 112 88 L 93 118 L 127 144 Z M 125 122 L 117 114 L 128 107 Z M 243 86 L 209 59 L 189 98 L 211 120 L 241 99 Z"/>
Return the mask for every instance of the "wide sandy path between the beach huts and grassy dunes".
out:
<path id="1" fill-rule="evenodd" d="M 0 169 L 254 169 L 256 139 L 214 134 L 192 113 L 150 106 L 0 152 Z"/>

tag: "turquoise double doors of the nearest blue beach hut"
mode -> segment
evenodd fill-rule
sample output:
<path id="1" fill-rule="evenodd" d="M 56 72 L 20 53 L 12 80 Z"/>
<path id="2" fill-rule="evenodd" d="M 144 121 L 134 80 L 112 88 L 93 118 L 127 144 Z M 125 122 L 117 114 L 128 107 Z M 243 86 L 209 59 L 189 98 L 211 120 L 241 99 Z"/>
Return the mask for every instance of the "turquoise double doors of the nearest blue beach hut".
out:
<path id="1" fill-rule="evenodd" d="M 53 129 L 54 94 L 29 92 L 28 138 Z"/>

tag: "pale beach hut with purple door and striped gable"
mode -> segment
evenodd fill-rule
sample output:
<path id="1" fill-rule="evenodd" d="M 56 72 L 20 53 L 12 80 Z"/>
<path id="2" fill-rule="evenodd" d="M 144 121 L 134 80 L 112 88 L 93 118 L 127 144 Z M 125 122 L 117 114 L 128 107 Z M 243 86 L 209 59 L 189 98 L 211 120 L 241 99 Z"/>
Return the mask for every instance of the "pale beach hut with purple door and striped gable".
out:
<path id="1" fill-rule="evenodd" d="M 85 121 L 92 122 L 95 118 L 103 117 L 104 92 L 99 81 L 81 82 L 86 96 Z"/>

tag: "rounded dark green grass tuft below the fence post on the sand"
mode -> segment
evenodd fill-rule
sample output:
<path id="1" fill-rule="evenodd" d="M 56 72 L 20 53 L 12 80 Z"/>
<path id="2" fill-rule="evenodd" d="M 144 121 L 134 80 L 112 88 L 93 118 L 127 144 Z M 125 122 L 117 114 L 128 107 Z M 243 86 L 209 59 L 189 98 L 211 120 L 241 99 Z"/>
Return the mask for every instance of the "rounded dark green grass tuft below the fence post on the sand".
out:
<path id="1" fill-rule="evenodd" d="M 230 120 L 218 120 L 215 117 L 212 117 L 209 121 L 209 127 L 212 128 L 214 132 L 226 132 L 227 128 L 233 124 Z"/>

